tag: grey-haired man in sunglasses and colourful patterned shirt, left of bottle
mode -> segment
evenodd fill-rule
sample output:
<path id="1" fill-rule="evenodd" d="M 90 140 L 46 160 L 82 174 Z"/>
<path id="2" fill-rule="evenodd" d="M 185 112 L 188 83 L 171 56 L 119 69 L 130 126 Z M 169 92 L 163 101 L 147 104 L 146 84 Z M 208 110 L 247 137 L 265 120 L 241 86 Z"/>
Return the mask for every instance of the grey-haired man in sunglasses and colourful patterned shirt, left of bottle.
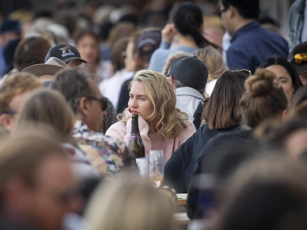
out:
<path id="1" fill-rule="evenodd" d="M 82 69 L 59 72 L 51 88 L 59 90 L 67 99 L 76 117 L 73 138 L 101 176 L 135 164 L 123 140 L 99 132 L 106 116 L 107 98 Z"/>

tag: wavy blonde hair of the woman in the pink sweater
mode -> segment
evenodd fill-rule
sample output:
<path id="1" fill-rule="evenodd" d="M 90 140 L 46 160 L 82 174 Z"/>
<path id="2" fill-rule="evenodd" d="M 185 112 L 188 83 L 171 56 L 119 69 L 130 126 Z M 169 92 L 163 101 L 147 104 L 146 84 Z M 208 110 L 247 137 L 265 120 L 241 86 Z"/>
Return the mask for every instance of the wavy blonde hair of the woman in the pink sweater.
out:
<path id="1" fill-rule="evenodd" d="M 169 80 L 156 71 L 141 70 L 136 72 L 129 88 L 137 81 L 144 84 L 146 96 L 153 105 L 153 113 L 144 118 L 146 122 L 158 121 L 154 131 L 161 133 L 162 140 L 178 136 L 187 127 L 184 121 L 188 115 L 176 108 L 176 95 Z M 126 125 L 125 113 L 120 113 L 118 119 Z"/>

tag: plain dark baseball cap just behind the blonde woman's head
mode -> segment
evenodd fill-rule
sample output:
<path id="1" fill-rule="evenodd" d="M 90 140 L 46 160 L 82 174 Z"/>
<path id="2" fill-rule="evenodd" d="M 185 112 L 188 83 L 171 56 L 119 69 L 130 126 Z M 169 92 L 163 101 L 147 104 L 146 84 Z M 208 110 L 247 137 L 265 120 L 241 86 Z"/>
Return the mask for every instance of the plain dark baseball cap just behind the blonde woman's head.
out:
<path id="1" fill-rule="evenodd" d="M 183 56 L 173 61 L 166 76 L 169 75 L 188 86 L 203 89 L 206 87 L 208 69 L 196 56 Z"/>

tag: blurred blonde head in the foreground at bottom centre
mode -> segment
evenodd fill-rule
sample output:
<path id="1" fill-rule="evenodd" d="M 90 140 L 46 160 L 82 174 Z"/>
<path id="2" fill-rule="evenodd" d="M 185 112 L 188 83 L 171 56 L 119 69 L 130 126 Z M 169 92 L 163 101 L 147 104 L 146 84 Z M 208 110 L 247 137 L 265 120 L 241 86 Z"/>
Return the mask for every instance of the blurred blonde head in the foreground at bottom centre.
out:
<path id="1" fill-rule="evenodd" d="M 169 199 L 142 178 L 116 178 L 100 185 L 85 216 L 90 230 L 173 230 Z"/>

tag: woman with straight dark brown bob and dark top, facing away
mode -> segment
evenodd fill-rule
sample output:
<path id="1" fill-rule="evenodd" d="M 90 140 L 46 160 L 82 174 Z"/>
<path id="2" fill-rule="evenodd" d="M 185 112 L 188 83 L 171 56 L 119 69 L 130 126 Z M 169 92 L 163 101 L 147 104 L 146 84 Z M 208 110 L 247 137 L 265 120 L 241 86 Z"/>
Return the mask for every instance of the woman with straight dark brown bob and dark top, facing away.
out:
<path id="1" fill-rule="evenodd" d="M 202 114 L 208 123 L 181 144 L 166 162 L 165 181 L 172 183 L 177 193 L 187 192 L 196 159 L 207 141 L 219 133 L 239 128 L 242 115 L 240 98 L 246 78 L 243 71 L 226 71 L 217 79 Z"/>

